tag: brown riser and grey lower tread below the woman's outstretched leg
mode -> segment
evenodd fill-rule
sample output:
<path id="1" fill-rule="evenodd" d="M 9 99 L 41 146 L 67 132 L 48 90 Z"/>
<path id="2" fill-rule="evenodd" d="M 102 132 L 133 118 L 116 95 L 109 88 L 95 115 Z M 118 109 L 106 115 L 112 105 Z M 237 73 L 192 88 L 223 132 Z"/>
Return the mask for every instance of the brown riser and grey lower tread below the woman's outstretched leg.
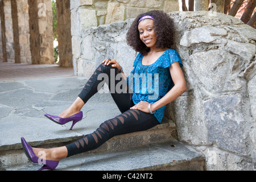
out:
<path id="1" fill-rule="evenodd" d="M 82 136 L 81 136 L 82 137 Z M 80 137 L 80 138 L 81 138 Z M 119 135 L 96 150 L 61 160 L 60 171 L 127 171 L 127 170 L 204 170 L 205 159 L 192 147 L 176 139 L 175 124 L 164 119 L 162 125 L 147 131 Z M 37 147 L 61 146 L 69 142 L 34 141 Z M 40 166 L 28 161 L 21 144 L 2 147 L 0 170 L 34 171 Z M 7 149 L 9 148 L 9 149 Z"/>

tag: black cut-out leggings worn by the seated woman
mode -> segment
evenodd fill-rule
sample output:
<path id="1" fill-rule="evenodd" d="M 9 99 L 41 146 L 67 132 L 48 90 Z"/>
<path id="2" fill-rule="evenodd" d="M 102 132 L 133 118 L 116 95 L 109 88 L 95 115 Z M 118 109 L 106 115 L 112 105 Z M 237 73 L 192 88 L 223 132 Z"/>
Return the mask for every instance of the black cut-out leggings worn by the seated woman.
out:
<path id="1" fill-rule="evenodd" d="M 110 93 L 122 114 L 103 122 L 92 134 L 85 135 L 84 138 L 68 144 L 66 146 L 68 149 L 68 157 L 96 149 L 114 136 L 148 130 L 159 124 L 158 120 L 154 117 L 154 114 L 130 109 L 130 107 L 134 106 L 132 93 L 117 93 L 115 92 L 115 88 L 113 92 L 113 86 L 115 87 L 118 83 L 118 85 L 122 85 L 121 81 L 125 81 L 125 79 L 121 78 L 121 80 L 116 80 L 115 78 L 111 78 L 113 76 L 116 77 L 118 74 L 117 69 L 113 68 L 111 65 L 112 64 L 101 64 L 92 77 L 89 78 L 89 81 L 86 83 L 84 89 L 82 89 L 79 97 L 86 103 L 90 97 L 97 93 L 98 85 L 102 84 L 102 80 L 98 80 L 98 76 L 101 73 L 105 73 L 109 78 L 108 85 Z M 128 89 L 127 84 L 126 89 Z"/>

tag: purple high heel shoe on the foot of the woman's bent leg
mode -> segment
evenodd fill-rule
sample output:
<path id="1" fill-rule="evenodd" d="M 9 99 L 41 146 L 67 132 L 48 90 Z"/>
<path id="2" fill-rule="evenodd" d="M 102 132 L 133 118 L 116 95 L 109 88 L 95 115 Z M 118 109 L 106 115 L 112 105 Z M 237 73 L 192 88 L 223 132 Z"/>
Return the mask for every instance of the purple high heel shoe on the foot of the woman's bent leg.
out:
<path id="1" fill-rule="evenodd" d="M 49 115 L 49 114 L 44 114 L 45 117 L 51 119 L 51 121 L 58 123 L 59 125 L 65 125 L 65 123 L 68 123 L 70 121 L 73 121 L 72 126 L 70 130 L 73 129 L 73 126 L 82 120 L 82 111 L 80 113 L 74 114 L 71 117 L 68 118 L 61 118 L 56 115 Z"/>

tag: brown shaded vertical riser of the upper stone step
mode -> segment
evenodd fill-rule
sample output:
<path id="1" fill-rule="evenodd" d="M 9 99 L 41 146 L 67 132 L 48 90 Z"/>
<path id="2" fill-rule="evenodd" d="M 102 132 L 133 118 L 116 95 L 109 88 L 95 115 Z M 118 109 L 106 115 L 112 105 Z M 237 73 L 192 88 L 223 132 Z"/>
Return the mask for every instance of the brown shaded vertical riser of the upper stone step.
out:
<path id="1" fill-rule="evenodd" d="M 27 140 L 32 147 L 51 148 L 64 146 L 65 144 L 75 142 L 84 135 L 73 135 L 68 138 L 55 138 L 42 140 Z M 159 142 L 168 142 L 176 138 L 175 123 L 164 118 L 161 125 L 155 126 L 150 130 L 139 131 L 135 133 L 119 135 L 108 140 L 99 148 L 88 153 L 102 152 L 102 151 L 116 151 L 126 148 L 134 148 L 138 146 L 145 146 L 147 144 L 154 144 Z M 68 142 L 67 142 L 68 141 Z M 22 150 L 21 143 L 15 143 L 5 146 L 0 146 L 0 168 L 5 169 L 9 166 L 20 165 L 27 162 L 26 156 Z"/>

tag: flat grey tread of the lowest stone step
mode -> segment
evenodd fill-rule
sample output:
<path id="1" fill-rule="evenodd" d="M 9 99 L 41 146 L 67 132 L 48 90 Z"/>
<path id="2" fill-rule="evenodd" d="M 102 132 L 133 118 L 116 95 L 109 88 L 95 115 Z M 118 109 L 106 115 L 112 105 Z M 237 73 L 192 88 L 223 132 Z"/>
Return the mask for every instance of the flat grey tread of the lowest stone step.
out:
<path id="1" fill-rule="evenodd" d="M 26 158 L 26 156 L 24 156 Z M 42 165 L 41 165 L 42 166 Z M 3 170 L 34 171 L 39 164 L 26 162 Z M 192 147 L 172 140 L 115 151 L 101 151 L 71 156 L 61 160 L 57 171 L 152 171 L 205 169 L 205 158 Z M 101 177 L 101 176 L 98 176 Z M 102 176 L 103 177 L 103 176 Z M 127 176 L 126 176 L 127 177 Z M 131 176 L 130 176 L 131 177 Z"/>

